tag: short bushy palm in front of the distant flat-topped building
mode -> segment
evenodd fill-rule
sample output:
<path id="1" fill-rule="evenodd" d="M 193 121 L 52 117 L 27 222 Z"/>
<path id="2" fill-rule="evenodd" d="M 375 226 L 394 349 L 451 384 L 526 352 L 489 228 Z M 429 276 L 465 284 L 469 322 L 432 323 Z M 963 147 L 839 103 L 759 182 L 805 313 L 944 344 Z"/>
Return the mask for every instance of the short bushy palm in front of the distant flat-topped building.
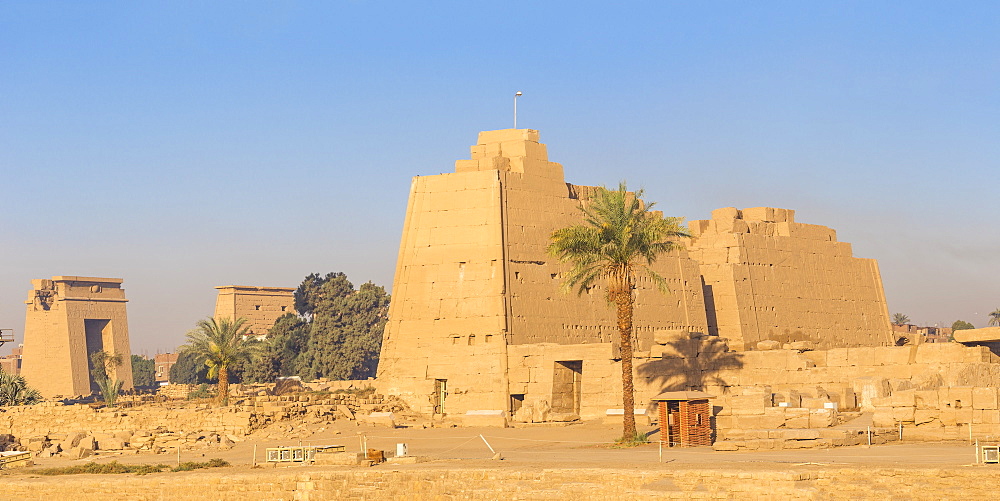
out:
<path id="1" fill-rule="evenodd" d="M 208 367 L 208 377 L 218 377 L 216 398 L 220 405 L 229 400 L 229 369 L 257 355 L 261 343 L 248 336 L 247 319 L 208 318 L 198 321 L 198 328 L 187 334 L 188 345 L 182 348 Z"/>

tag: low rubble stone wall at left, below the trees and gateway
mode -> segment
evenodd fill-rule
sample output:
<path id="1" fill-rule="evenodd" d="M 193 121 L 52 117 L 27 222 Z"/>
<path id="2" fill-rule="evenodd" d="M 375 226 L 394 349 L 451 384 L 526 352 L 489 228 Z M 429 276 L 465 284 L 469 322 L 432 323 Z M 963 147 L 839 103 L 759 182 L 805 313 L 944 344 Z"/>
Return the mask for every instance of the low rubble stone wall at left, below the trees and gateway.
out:
<path id="1" fill-rule="evenodd" d="M 144 403 L 129 408 L 93 408 L 61 402 L 0 407 L 0 450 L 79 458 L 97 449 L 225 448 L 258 429 L 290 419 L 318 424 L 336 419 L 364 419 L 374 411 L 405 410 L 393 397 L 353 393 L 299 393 L 234 400 L 234 405 L 221 408 L 193 402 Z"/>

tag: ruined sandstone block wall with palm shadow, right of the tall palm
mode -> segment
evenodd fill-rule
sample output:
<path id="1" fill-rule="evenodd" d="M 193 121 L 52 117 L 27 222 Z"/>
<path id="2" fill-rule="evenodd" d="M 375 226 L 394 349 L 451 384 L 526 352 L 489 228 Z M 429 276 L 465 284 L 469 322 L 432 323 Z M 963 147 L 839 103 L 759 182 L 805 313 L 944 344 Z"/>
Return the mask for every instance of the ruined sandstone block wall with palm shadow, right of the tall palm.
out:
<path id="1" fill-rule="evenodd" d="M 867 423 L 858 426 L 873 429 L 874 443 L 898 439 L 900 425 L 906 439 L 1000 436 L 1000 357 L 986 347 L 813 350 L 808 342 L 762 342 L 759 350 L 731 352 L 711 336 L 668 341 L 660 359 L 637 363 L 640 395 L 650 386 L 716 395 L 716 438 L 730 442 L 722 449 L 866 443 L 857 429 L 831 429 L 858 417 Z M 796 438 L 782 438 L 786 430 Z"/>

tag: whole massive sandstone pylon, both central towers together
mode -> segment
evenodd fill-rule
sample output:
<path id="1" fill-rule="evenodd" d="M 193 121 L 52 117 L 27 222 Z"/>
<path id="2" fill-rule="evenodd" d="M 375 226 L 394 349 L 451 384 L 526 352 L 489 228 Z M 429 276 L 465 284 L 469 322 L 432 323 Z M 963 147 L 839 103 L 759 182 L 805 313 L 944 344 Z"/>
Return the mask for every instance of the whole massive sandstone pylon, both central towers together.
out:
<path id="1" fill-rule="evenodd" d="M 454 173 L 415 177 L 379 362 L 384 391 L 451 415 L 595 418 L 620 408 L 618 331 L 603 287 L 562 292 L 567 268 L 545 252 L 554 230 L 581 222 L 594 189 L 567 183 L 530 129 L 481 132 Z M 692 222 L 685 249 L 654 266 L 671 293 L 637 283 L 637 370 L 682 350 L 682 338 L 705 350 L 892 342 L 874 261 L 791 214 L 722 209 Z M 637 402 L 665 389 L 656 380 L 637 374 Z"/>

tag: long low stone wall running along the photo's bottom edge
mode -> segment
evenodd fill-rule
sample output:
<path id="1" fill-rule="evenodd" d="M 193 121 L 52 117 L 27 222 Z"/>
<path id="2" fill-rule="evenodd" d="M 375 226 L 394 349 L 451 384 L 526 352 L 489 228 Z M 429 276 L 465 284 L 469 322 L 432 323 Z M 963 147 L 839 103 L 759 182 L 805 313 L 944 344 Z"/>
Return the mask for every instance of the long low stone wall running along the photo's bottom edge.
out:
<path id="1" fill-rule="evenodd" d="M 4 478 L 10 499 L 992 499 L 996 467 L 806 469 L 254 470 Z"/>

